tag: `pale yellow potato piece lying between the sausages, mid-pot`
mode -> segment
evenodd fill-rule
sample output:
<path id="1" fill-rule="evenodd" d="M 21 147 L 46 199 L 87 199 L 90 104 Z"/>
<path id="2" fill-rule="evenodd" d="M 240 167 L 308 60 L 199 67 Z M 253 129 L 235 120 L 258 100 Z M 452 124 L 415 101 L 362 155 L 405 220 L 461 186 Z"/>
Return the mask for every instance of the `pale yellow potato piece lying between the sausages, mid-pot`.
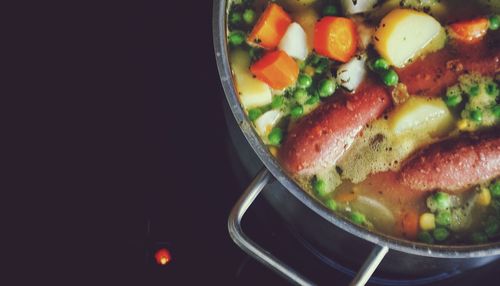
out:
<path id="1" fill-rule="evenodd" d="M 454 118 L 440 98 L 411 97 L 389 115 L 389 128 L 395 135 L 425 132 L 444 135 L 453 128 Z"/>

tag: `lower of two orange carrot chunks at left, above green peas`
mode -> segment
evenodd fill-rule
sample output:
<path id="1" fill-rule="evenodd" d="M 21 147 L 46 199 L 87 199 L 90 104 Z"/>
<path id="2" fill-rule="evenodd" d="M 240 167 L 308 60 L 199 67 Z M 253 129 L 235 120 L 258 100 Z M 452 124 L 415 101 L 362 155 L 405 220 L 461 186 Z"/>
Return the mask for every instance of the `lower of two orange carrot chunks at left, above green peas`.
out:
<path id="1" fill-rule="evenodd" d="M 269 52 L 255 62 L 250 71 L 274 89 L 284 89 L 295 83 L 299 66 L 283 51 Z"/>

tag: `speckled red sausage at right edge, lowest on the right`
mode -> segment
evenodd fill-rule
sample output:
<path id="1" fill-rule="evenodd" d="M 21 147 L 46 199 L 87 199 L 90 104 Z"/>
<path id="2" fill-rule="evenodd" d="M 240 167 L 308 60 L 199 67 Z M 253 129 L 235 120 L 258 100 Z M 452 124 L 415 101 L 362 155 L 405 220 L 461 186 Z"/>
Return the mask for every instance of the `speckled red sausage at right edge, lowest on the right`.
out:
<path id="1" fill-rule="evenodd" d="M 500 130 L 435 143 L 401 168 L 399 180 L 421 191 L 463 191 L 500 176 Z"/>

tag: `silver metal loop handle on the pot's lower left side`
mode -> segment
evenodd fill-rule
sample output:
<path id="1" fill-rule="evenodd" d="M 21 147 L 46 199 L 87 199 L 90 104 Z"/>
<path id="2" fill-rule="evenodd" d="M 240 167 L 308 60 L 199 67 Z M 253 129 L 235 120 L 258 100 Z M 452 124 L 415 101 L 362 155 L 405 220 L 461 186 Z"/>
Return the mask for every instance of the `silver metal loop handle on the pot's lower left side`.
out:
<path id="1" fill-rule="evenodd" d="M 255 176 L 253 181 L 231 210 L 231 214 L 228 219 L 229 234 L 231 235 L 233 241 L 248 255 L 271 268 L 284 278 L 298 285 L 315 285 L 312 281 L 303 277 L 274 255 L 256 244 L 243 232 L 243 229 L 241 228 L 241 220 L 243 219 L 246 211 L 264 187 L 272 180 L 273 176 L 266 168 L 260 170 L 257 176 Z M 376 245 L 349 285 L 365 285 L 388 251 L 389 248 L 387 246 Z"/>

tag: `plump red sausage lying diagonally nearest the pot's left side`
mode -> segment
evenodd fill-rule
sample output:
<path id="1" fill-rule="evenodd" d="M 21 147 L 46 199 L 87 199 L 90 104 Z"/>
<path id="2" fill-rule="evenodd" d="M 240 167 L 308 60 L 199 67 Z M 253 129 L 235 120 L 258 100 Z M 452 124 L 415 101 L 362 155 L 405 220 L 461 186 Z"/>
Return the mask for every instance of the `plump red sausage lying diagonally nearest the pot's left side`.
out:
<path id="1" fill-rule="evenodd" d="M 384 86 L 365 80 L 356 93 L 326 102 L 297 122 L 278 159 L 292 174 L 310 175 L 333 167 L 363 127 L 390 104 Z"/>

